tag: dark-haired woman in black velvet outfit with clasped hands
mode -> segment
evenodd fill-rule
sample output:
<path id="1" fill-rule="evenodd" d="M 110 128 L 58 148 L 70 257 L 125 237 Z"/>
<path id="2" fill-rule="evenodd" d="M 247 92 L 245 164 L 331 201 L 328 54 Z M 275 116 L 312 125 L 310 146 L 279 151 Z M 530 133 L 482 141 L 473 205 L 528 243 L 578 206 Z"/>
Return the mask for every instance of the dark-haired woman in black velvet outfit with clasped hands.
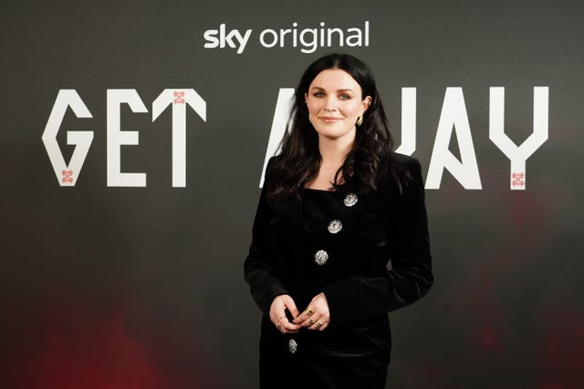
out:
<path id="1" fill-rule="evenodd" d="M 349 55 L 308 67 L 281 146 L 245 260 L 260 386 L 383 388 L 387 313 L 433 283 L 420 164 L 391 152 L 374 78 Z"/>

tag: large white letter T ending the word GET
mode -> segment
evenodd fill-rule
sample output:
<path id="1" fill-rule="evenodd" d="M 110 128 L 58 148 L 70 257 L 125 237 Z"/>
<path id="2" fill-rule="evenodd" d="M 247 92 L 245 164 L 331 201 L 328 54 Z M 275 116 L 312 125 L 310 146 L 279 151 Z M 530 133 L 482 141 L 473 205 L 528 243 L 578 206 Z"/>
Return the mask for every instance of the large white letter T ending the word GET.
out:
<path id="1" fill-rule="evenodd" d="M 172 187 L 186 187 L 186 104 L 207 121 L 207 104 L 193 89 L 164 89 L 152 102 L 152 121 L 172 104 Z"/>

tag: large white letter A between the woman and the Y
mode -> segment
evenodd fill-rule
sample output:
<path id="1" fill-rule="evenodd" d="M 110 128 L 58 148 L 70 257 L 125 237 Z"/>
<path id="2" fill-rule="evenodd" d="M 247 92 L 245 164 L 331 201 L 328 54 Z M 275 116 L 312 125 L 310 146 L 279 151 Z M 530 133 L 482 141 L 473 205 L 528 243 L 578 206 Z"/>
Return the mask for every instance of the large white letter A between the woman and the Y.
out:
<path id="1" fill-rule="evenodd" d="M 456 159 L 448 149 L 453 128 L 458 139 L 462 161 Z M 440 188 L 444 168 L 452 173 L 464 189 L 482 189 L 462 87 L 446 88 L 426 179 L 426 189 Z"/>

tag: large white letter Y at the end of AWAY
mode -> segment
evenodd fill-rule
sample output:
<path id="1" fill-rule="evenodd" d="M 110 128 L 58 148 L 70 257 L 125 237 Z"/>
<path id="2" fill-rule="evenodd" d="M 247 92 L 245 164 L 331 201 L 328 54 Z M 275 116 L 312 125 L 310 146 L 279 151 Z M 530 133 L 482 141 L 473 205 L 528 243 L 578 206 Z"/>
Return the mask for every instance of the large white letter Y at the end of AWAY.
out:
<path id="1" fill-rule="evenodd" d="M 547 140 L 548 87 L 533 88 L 533 134 L 519 147 L 505 134 L 505 87 L 490 92 L 489 139 L 511 161 L 511 189 L 525 190 L 526 161 Z"/>

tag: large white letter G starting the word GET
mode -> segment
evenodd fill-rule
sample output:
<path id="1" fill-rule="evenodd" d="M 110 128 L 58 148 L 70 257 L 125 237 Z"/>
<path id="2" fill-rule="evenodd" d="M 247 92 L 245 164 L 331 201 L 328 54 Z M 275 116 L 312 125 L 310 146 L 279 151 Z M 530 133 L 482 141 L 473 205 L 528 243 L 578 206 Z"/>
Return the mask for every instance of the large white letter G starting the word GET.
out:
<path id="1" fill-rule="evenodd" d="M 78 118 L 93 118 L 75 89 L 61 89 L 58 91 L 55 105 L 48 117 L 42 139 L 47 149 L 48 158 L 51 160 L 57 175 L 59 185 L 62 187 L 74 187 L 83 162 L 85 162 L 85 158 L 88 155 L 89 147 L 93 140 L 93 132 L 67 132 L 67 144 L 75 145 L 76 147 L 73 149 L 69 164 L 66 164 L 61 149 L 58 147 L 57 133 L 63 123 L 63 118 L 65 118 L 67 107 L 71 107 L 71 110 Z"/>

